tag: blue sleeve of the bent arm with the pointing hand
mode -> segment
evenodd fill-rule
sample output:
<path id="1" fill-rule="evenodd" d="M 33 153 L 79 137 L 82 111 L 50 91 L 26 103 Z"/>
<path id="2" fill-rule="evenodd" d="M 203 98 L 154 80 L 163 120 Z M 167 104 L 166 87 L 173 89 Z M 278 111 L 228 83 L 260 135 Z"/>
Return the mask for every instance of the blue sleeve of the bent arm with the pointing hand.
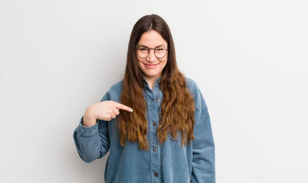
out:
<path id="1" fill-rule="evenodd" d="M 102 101 L 109 100 L 106 93 Z M 81 159 L 87 163 L 102 158 L 109 151 L 108 121 L 97 120 L 93 126 L 82 125 L 83 116 L 73 132 L 73 139 Z"/>

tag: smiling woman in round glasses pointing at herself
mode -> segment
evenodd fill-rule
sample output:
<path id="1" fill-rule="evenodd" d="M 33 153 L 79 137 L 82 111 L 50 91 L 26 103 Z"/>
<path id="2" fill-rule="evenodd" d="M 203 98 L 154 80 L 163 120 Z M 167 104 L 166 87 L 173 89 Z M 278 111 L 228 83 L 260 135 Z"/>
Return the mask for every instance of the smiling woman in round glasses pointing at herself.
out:
<path id="1" fill-rule="evenodd" d="M 160 16 L 134 25 L 124 79 L 87 107 L 73 138 L 85 162 L 110 150 L 105 182 L 215 182 L 207 105 Z"/>

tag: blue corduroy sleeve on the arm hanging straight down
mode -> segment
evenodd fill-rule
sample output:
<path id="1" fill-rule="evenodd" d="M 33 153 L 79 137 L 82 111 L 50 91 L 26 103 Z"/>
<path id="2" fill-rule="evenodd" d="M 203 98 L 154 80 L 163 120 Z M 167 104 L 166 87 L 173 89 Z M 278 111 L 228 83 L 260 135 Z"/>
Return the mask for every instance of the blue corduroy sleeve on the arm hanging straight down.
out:
<path id="1" fill-rule="evenodd" d="M 215 183 L 215 143 L 208 108 L 198 86 L 196 87 L 194 136 L 192 140 L 192 183 Z"/>

